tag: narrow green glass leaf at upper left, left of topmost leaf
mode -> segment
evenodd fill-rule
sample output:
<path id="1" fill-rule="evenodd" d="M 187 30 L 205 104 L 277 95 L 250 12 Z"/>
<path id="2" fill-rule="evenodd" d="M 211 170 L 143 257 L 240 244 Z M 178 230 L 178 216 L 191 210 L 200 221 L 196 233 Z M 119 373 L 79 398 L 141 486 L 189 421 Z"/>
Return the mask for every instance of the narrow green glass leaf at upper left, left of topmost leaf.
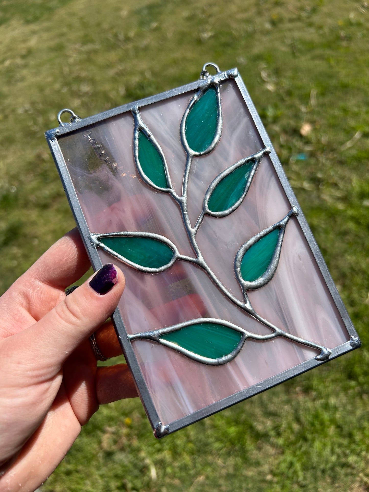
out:
<path id="1" fill-rule="evenodd" d="M 143 173 L 156 186 L 167 188 L 164 162 L 151 140 L 140 130 L 138 135 L 138 159 Z"/>

